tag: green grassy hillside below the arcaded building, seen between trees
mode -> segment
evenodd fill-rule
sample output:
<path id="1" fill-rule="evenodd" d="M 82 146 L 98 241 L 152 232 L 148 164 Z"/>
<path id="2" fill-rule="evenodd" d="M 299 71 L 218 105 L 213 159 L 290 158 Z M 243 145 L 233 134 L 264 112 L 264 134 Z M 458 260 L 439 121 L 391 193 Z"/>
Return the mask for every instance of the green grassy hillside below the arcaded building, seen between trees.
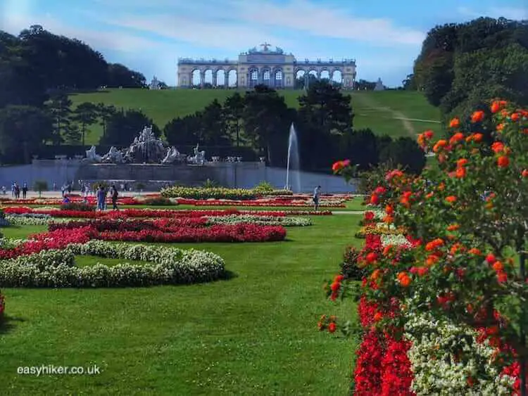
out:
<path id="1" fill-rule="evenodd" d="M 172 118 L 201 110 L 217 98 L 225 101 L 233 93 L 225 89 L 108 89 L 88 94 L 73 94 L 73 106 L 82 102 L 105 103 L 117 108 L 141 109 L 152 117 L 163 129 Z M 288 106 L 297 107 L 297 98 L 303 91 L 282 91 Z M 391 136 L 415 135 L 425 129 L 440 129 L 439 110 L 429 105 L 419 92 L 411 91 L 365 91 L 353 92 L 352 108 L 356 117 L 354 127 L 369 127 L 377 134 Z M 96 144 L 101 136 L 101 127 L 93 125 L 87 134 L 87 144 Z"/>

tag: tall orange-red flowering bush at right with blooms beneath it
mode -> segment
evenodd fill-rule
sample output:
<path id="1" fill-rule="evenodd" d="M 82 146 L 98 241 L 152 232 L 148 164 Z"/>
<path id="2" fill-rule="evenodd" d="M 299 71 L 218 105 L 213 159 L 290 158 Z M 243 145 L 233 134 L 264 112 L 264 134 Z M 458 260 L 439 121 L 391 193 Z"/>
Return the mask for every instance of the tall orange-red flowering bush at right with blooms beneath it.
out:
<path id="1" fill-rule="evenodd" d="M 403 238 L 384 236 L 381 251 L 363 255 L 363 295 L 372 309 L 360 303 L 371 317 L 362 324 L 384 351 L 390 339 L 399 340 L 400 349 L 412 341 L 413 388 L 393 394 L 429 394 L 435 386 L 446 394 L 501 394 L 512 386 L 525 394 L 528 112 L 494 101 L 466 124 L 453 119 L 450 128 L 451 136 L 434 144 L 432 132 L 418 137 L 436 154 L 436 167 L 418 177 L 387 172 L 372 187 L 369 203 L 384 211 L 384 224 L 408 235 L 409 244 L 396 247 L 391 242 Z M 378 228 L 369 226 L 367 238 Z M 345 287 L 334 288 L 339 295 Z M 436 326 L 413 322 L 423 324 L 423 318 Z M 432 342 L 444 347 L 440 355 L 429 351 Z M 383 394 L 379 359 L 364 358 L 372 366 L 368 381 L 379 381 L 371 394 Z M 358 358 L 356 392 L 367 391 L 364 367 Z"/>

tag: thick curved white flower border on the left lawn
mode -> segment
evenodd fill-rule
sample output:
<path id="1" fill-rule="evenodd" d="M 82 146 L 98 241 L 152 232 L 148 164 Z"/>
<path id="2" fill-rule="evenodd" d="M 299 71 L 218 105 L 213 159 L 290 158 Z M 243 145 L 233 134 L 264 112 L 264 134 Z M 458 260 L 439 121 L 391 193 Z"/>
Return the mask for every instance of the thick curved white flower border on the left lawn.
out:
<path id="1" fill-rule="evenodd" d="M 97 255 L 149 264 L 96 263 L 77 267 L 75 255 Z M 196 283 L 219 279 L 224 260 L 201 250 L 181 250 L 151 245 L 89 241 L 65 250 L 44 250 L 34 255 L 0 261 L 0 286 L 4 287 L 126 287 Z"/>

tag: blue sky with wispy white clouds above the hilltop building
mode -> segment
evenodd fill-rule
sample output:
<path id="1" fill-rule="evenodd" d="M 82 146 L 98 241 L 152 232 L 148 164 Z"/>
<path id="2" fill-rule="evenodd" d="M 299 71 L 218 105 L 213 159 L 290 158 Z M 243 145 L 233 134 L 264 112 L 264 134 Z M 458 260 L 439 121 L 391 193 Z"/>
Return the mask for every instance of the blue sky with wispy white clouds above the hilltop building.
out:
<path id="1" fill-rule="evenodd" d="M 401 84 L 434 25 L 528 19 L 527 0 L 0 0 L 0 30 L 76 37 L 169 85 L 177 58 L 236 59 L 268 41 L 297 59 L 355 58 L 358 79 Z"/>

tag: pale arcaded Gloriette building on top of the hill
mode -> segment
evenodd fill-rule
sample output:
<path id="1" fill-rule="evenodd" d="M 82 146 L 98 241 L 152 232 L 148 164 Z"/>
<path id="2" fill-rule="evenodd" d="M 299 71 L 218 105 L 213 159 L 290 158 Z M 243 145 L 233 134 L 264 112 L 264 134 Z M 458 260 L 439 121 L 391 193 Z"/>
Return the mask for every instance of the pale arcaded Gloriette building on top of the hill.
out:
<path id="1" fill-rule="evenodd" d="M 279 47 L 270 50 L 270 44 L 260 44 L 241 53 L 238 60 L 178 59 L 178 87 L 203 87 L 211 84 L 215 88 L 247 87 L 266 84 L 272 88 L 294 88 L 297 78 L 313 75 L 318 79 L 330 79 L 342 84 L 344 89 L 353 89 L 356 81 L 356 60 L 297 60 L 291 53 Z"/>

